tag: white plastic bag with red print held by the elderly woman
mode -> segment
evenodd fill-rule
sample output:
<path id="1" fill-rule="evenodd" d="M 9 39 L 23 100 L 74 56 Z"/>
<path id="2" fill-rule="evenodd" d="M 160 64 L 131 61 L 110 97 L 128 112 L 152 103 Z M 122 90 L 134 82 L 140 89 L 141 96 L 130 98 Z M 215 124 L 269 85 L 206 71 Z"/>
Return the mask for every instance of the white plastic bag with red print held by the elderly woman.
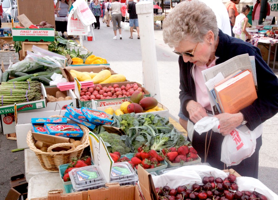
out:
<path id="1" fill-rule="evenodd" d="M 216 117 L 204 117 L 199 120 L 194 129 L 202 134 L 213 129 L 219 131 L 219 119 Z M 243 159 L 250 157 L 256 148 L 256 138 L 263 133 L 263 125 L 259 125 L 254 131 L 250 131 L 246 125 L 234 129 L 224 137 L 221 146 L 221 161 L 227 166 L 238 165 Z"/>

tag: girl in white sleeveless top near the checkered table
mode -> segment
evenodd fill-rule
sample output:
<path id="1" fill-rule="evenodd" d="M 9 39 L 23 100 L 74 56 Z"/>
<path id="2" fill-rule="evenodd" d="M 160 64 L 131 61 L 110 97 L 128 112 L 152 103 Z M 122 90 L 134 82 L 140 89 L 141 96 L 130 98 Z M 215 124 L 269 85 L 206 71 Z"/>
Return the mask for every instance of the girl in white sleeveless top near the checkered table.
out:
<path id="1" fill-rule="evenodd" d="M 246 41 L 246 39 L 251 39 L 251 35 L 246 31 L 248 18 L 247 14 L 250 12 L 250 7 L 245 5 L 242 7 L 240 14 L 236 17 L 233 32 L 234 37 Z"/>

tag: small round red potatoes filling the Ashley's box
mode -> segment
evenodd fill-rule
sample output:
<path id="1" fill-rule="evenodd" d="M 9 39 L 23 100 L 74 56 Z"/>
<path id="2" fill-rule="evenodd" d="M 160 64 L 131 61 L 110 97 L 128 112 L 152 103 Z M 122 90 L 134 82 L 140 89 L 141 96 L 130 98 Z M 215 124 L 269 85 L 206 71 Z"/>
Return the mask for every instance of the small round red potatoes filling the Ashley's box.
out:
<path id="1" fill-rule="evenodd" d="M 103 70 L 104 71 L 104 70 Z M 108 71 L 108 70 L 107 70 Z M 102 87 L 101 84 L 97 84 L 94 87 L 82 87 L 80 91 L 80 100 L 88 101 L 88 100 L 98 100 L 98 99 L 113 99 L 118 97 L 128 97 L 131 96 L 134 92 L 140 91 L 143 92 L 143 89 L 140 88 L 137 83 L 134 84 L 126 84 L 126 86 L 122 85 L 119 87 L 118 84 L 113 84 Z M 121 109 L 122 112 L 127 113 Z"/>

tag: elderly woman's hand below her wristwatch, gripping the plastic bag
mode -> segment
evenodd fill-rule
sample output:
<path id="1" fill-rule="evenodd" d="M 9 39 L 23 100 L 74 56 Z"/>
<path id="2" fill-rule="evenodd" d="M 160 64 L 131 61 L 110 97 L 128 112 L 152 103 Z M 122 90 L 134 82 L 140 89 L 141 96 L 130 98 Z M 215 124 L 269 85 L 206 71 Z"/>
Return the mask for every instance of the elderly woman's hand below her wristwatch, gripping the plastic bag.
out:
<path id="1" fill-rule="evenodd" d="M 220 133 L 223 136 L 229 135 L 231 131 L 238 127 L 243 121 L 242 113 L 221 113 L 215 117 L 219 119 Z"/>

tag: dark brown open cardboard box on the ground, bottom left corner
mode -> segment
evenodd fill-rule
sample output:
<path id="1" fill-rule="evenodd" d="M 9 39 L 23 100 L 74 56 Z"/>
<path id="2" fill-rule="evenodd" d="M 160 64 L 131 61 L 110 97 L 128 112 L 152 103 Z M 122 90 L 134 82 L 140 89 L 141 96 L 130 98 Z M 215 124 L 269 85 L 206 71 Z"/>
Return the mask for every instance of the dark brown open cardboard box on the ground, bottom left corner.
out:
<path id="1" fill-rule="evenodd" d="M 11 177 L 11 189 L 8 192 L 5 200 L 25 200 L 27 198 L 28 183 L 24 174 Z"/>

